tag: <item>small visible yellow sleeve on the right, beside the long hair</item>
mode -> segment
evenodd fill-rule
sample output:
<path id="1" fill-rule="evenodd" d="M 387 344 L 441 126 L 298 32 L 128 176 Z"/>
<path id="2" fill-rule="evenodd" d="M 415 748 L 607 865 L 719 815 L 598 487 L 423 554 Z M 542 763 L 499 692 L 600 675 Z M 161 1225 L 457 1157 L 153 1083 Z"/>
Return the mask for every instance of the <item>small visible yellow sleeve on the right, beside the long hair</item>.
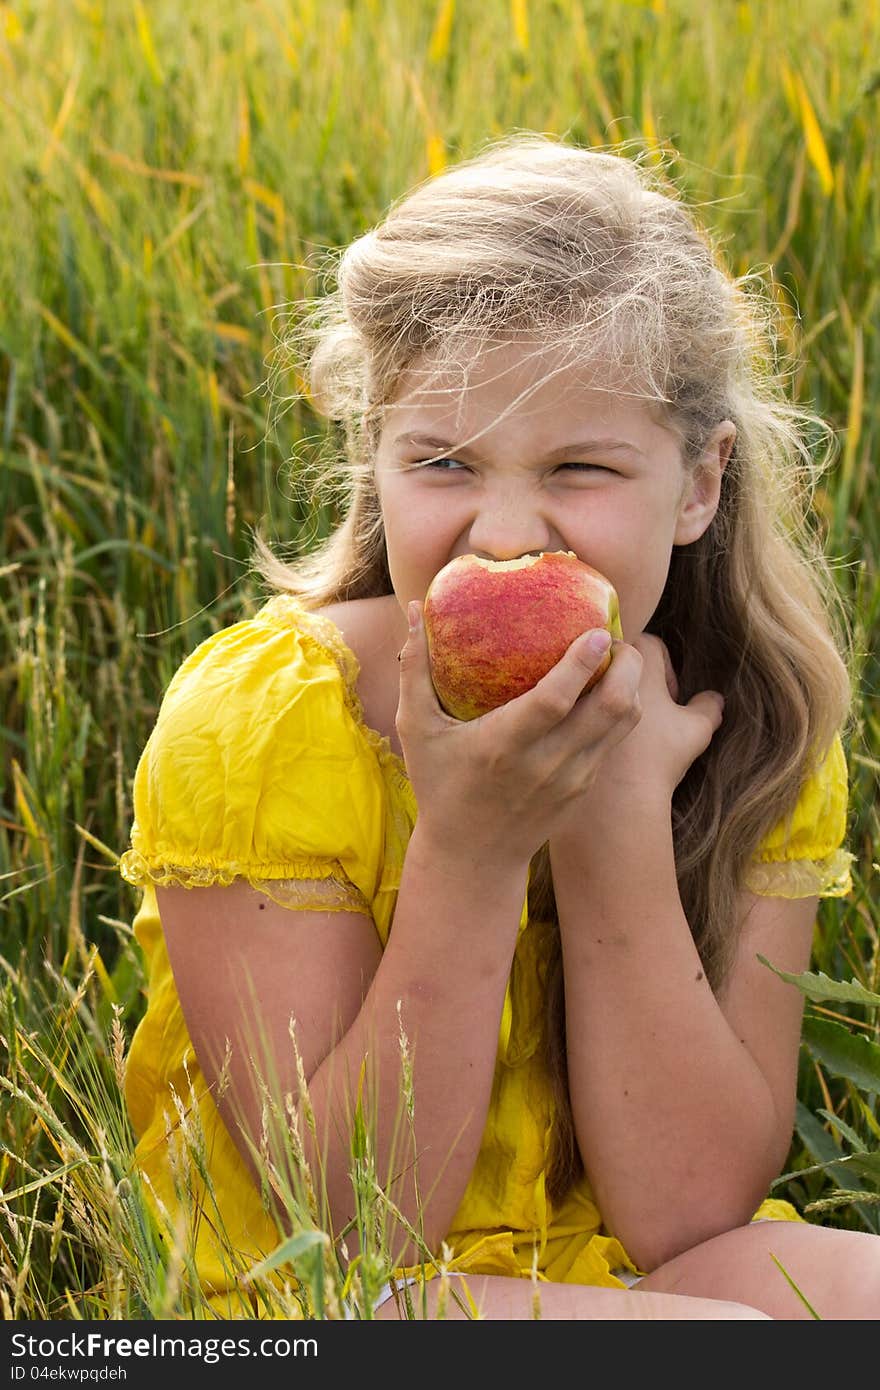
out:
<path id="1" fill-rule="evenodd" d="M 836 735 L 823 762 L 801 788 L 791 815 L 758 847 L 747 887 L 772 898 L 842 898 L 852 888 L 854 855 L 847 834 L 847 759 Z"/>

